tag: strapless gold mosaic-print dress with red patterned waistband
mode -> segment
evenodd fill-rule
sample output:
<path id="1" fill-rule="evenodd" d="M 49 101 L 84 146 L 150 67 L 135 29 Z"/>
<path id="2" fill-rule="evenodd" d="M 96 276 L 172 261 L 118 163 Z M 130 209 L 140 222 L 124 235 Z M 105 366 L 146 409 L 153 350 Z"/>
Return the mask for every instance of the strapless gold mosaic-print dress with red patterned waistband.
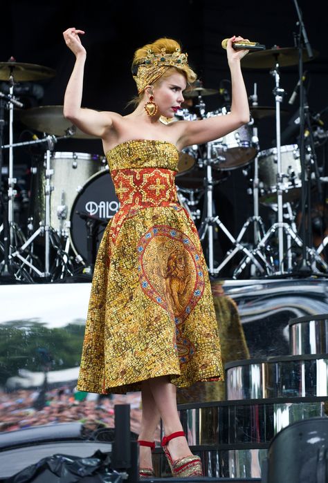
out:
<path id="1" fill-rule="evenodd" d="M 176 196 L 179 151 L 132 140 L 107 160 L 120 209 L 98 250 L 78 389 L 124 393 L 163 375 L 178 387 L 223 379 L 201 243 Z"/>

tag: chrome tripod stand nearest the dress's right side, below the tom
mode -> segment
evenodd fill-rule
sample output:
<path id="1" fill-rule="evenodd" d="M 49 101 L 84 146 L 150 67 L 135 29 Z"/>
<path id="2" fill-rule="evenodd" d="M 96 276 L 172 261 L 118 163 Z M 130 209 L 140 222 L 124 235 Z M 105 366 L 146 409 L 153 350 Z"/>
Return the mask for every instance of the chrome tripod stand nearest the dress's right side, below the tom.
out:
<path id="1" fill-rule="evenodd" d="M 212 145 L 209 142 L 207 146 L 207 159 L 204 160 L 203 165 L 206 167 L 206 178 L 204 178 L 204 182 L 206 184 L 206 217 L 204 218 L 203 222 L 201 222 L 201 226 L 199 228 L 199 238 L 200 240 L 204 240 L 206 234 L 208 234 L 208 270 L 211 275 L 219 274 L 220 270 L 230 261 L 233 256 L 237 252 L 244 252 L 244 254 L 248 255 L 253 263 L 257 266 L 260 272 L 264 272 L 262 265 L 257 261 L 255 256 L 241 243 L 239 240 L 233 237 L 230 234 L 230 231 L 224 226 L 224 224 L 219 219 L 219 216 L 214 216 L 213 213 L 213 178 L 212 178 L 212 164 L 217 164 L 217 160 L 213 163 L 211 160 L 211 151 Z M 221 158 L 221 159 L 220 159 Z M 225 158 L 219 157 L 219 161 L 224 161 Z M 229 238 L 229 240 L 235 245 L 235 248 L 228 252 L 228 255 L 224 258 L 224 261 L 218 267 L 214 267 L 214 251 L 213 251 L 213 227 L 217 225 L 224 234 Z"/>

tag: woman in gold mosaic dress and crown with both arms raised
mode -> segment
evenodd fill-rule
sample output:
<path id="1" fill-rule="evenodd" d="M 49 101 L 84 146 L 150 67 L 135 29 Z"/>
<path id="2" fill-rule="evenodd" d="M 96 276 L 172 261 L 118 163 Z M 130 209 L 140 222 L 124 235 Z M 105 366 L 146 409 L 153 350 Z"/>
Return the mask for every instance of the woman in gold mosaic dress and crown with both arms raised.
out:
<path id="1" fill-rule="evenodd" d="M 197 229 L 176 198 L 174 176 L 184 146 L 221 138 L 249 120 L 240 68 L 247 50 L 227 53 L 232 78 L 230 115 L 199 121 L 174 117 L 195 81 L 188 56 L 172 39 L 136 50 L 136 108 L 122 116 L 81 108 L 86 50 L 83 30 L 64 32 L 76 57 L 64 116 L 102 139 L 120 200 L 102 238 L 93 274 L 78 388 L 141 390 L 140 477 L 153 475 L 151 449 L 160 417 L 162 446 L 175 476 L 201 475 L 176 409 L 176 386 L 220 380 L 217 321 Z"/>

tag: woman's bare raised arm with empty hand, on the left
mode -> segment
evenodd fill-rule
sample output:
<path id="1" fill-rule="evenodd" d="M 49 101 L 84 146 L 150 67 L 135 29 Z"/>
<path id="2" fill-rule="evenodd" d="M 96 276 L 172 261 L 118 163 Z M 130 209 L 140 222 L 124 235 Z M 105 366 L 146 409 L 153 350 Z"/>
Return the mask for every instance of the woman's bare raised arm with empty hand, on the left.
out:
<path id="1" fill-rule="evenodd" d="M 84 133 L 104 138 L 112 126 L 110 113 L 81 107 L 86 50 L 82 46 L 80 35 L 84 35 L 84 31 L 68 28 L 63 32 L 63 35 L 66 45 L 76 57 L 73 72 L 65 91 L 64 117 Z"/>

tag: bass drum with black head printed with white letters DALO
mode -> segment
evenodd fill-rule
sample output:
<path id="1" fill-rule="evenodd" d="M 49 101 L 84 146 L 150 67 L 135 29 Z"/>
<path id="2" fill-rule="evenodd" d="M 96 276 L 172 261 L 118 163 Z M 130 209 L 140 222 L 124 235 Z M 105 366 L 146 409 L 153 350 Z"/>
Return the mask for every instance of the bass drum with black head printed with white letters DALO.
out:
<path id="1" fill-rule="evenodd" d="M 95 173 L 80 189 L 71 209 L 69 237 L 75 254 L 85 263 L 95 262 L 104 229 L 119 207 L 108 169 Z"/>

